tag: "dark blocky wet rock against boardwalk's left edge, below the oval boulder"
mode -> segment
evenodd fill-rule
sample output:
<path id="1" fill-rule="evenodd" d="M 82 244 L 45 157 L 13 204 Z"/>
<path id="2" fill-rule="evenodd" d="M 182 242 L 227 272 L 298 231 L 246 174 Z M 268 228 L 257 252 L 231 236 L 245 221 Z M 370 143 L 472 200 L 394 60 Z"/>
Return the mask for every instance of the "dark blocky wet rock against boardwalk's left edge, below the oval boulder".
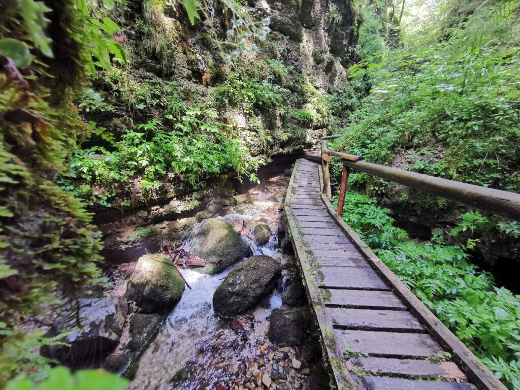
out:
<path id="1" fill-rule="evenodd" d="M 301 345 L 305 334 L 305 307 L 282 306 L 269 316 L 269 340 L 280 346 Z"/>

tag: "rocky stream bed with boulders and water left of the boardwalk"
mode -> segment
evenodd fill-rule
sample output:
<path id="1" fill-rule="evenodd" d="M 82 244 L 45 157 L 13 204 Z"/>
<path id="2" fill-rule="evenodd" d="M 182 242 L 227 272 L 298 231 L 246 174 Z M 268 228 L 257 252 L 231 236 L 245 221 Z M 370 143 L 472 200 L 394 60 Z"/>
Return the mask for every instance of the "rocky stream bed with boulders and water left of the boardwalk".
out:
<path id="1" fill-rule="evenodd" d="M 131 389 L 327 388 L 285 237 L 288 181 L 270 175 L 241 193 L 228 191 L 225 206 L 209 204 L 193 218 L 177 243 L 204 267 L 181 266 L 181 277 L 166 251 L 107 266 L 107 287 L 80 300 L 79 316 L 65 308 L 50 327 L 53 336 L 71 332 L 67 345 L 42 354 L 117 372 L 132 380 Z M 160 226 L 168 223 L 177 222 Z"/>

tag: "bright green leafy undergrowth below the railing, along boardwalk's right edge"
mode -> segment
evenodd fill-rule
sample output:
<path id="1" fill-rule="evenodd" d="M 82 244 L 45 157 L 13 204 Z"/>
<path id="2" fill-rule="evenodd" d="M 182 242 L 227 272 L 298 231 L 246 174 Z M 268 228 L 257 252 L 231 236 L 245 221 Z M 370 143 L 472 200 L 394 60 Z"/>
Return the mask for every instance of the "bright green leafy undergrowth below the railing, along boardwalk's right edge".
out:
<path id="1" fill-rule="evenodd" d="M 506 386 L 520 388 L 520 296 L 470 262 L 471 240 L 447 245 L 440 232 L 411 240 L 375 198 L 357 192 L 347 192 L 342 218 Z"/>

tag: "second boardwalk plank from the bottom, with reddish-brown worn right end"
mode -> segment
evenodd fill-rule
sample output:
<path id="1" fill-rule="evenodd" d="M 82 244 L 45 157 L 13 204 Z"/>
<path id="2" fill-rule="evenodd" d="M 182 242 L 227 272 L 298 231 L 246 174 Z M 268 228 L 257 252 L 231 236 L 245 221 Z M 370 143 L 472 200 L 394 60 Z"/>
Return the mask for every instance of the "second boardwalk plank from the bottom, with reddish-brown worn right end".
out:
<path id="1" fill-rule="evenodd" d="M 348 361 L 349 369 L 361 369 L 367 373 L 404 376 L 436 376 L 443 379 L 467 381 L 466 375 L 452 361 L 355 357 Z"/>

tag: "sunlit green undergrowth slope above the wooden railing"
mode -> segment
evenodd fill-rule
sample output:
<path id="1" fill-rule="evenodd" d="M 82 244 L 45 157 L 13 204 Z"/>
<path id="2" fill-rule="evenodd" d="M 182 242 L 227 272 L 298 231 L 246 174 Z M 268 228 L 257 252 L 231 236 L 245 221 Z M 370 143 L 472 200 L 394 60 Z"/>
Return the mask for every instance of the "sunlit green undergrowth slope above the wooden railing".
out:
<path id="1" fill-rule="evenodd" d="M 371 94 L 359 101 L 334 150 L 520 191 L 520 2 L 477 5 L 452 29 L 442 26 L 447 17 L 439 11 L 421 30 L 402 30 L 399 46 L 350 68 L 353 82 Z M 361 185 L 371 180 L 355 176 Z"/>

